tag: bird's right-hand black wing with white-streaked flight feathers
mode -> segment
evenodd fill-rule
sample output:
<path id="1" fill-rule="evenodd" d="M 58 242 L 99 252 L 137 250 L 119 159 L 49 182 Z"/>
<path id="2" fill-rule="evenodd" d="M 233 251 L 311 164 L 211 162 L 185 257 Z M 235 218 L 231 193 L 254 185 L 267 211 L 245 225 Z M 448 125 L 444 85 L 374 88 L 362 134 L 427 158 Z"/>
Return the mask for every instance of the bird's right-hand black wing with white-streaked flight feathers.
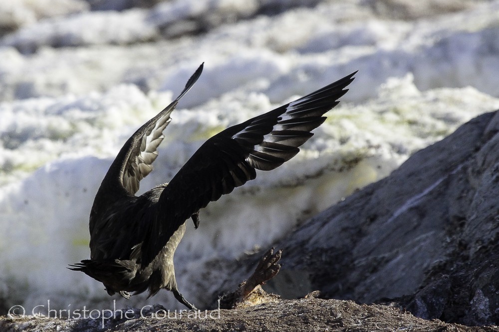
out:
<path id="1" fill-rule="evenodd" d="M 310 131 L 324 122 L 322 115 L 348 91 L 345 87 L 355 73 L 208 139 L 162 192 L 142 247 L 142 264 L 149 263 L 173 232 L 209 202 L 254 179 L 256 169 L 272 170 L 296 155 L 313 135 Z"/>

